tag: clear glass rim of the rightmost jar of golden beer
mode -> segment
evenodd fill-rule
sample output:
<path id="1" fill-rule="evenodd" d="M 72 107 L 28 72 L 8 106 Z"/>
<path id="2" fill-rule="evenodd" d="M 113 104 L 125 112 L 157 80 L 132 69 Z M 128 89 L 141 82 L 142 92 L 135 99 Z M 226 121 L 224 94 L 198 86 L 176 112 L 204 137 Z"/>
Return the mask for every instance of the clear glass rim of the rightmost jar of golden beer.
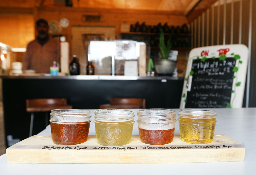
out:
<path id="1" fill-rule="evenodd" d="M 188 116 L 184 116 L 188 115 Z M 182 117 L 215 117 L 217 115 L 215 110 L 208 110 L 208 109 L 180 109 L 178 116 Z"/>

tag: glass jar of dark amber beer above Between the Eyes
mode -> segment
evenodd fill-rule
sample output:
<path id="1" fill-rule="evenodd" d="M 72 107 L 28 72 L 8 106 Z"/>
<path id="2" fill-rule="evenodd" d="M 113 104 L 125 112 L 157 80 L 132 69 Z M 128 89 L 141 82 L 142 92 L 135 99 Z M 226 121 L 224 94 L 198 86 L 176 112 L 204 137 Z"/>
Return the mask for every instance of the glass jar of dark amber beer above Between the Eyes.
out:
<path id="1" fill-rule="evenodd" d="M 51 138 L 57 145 L 76 145 L 86 142 L 91 112 L 79 109 L 51 110 Z"/>

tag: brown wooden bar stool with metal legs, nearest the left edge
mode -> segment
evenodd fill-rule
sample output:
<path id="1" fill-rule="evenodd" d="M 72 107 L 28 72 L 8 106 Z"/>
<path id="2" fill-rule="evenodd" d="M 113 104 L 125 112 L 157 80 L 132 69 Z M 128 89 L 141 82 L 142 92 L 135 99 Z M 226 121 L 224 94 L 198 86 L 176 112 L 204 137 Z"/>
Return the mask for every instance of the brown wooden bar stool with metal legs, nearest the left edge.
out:
<path id="1" fill-rule="evenodd" d="M 48 125 L 48 111 L 52 109 L 72 109 L 67 105 L 64 98 L 28 99 L 26 100 L 26 111 L 31 112 L 29 137 L 32 136 L 34 112 L 45 112 L 45 125 Z"/>

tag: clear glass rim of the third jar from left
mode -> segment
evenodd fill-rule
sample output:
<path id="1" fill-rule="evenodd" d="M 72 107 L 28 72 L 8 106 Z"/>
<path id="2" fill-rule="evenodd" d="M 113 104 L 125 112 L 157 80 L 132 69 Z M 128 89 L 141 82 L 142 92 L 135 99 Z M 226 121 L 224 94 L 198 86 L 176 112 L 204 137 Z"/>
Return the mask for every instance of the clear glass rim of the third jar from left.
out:
<path id="1" fill-rule="evenodd" d="M 164 108 L 141 109 L 138 111 L 137 115 L 140 115 L 140 117 L 163 117 L 167 115 L 176 117 L 174 110 Z"/>

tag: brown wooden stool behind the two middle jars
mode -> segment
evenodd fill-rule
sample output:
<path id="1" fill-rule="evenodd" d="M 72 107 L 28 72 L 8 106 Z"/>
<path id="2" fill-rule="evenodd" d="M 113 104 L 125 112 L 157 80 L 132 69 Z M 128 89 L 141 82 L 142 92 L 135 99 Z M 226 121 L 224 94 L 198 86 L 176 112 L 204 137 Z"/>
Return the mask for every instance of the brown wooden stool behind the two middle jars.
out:
<path id="1" fill-rule="evenodd" d="M 115 109 L 137 109 L 145 108 L 146 100 L 141 98 L 111 98 L 110 104 L 100 105 L 100 109 L 115 108 Z"/>

